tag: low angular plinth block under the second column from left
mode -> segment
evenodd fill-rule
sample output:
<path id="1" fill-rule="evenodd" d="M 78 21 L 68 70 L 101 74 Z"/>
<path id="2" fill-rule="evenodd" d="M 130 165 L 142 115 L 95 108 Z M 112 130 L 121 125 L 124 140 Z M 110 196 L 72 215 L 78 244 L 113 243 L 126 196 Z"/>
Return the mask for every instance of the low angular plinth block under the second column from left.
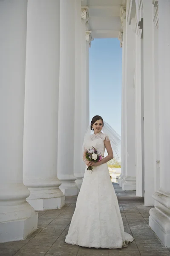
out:
<path id="1" fill-rule="evenodd" d="M 61 209 L 65 204 L 65 195 L 57 198 L 27 199 L 36 211 Z"/>

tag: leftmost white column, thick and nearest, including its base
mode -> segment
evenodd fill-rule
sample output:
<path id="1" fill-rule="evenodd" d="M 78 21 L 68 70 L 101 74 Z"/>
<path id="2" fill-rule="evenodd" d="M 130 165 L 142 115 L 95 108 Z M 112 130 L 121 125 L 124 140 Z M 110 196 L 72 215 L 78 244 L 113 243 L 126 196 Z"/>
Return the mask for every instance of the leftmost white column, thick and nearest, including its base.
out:
<path id="1" fill-rule="evenodd" d="M 26 17 L 27 0 L 0 1 L 0 242 L 37 228 L 23 185 Z"/>

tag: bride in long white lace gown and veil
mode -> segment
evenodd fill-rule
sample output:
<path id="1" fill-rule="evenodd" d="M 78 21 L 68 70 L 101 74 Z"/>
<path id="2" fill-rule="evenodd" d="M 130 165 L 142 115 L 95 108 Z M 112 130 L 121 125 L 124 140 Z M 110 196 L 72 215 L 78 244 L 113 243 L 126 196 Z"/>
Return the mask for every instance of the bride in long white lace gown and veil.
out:
<path id="1" fill-rule="evenodd" d="M 124 232 L 118 200 L 107 167 L 107 162 L 113 158 L 113 152 L 114 157 L 118 154 L 120 137 L 112 128 L 108 128 L 101 116 L 94 116 L 89 127 L 94 133 L 90 135 L 87 131 L 85 135 L 83 160 L 86 169 L 87 166 L 92 166 L 93 171 L 85 171 L 65 242 L 82 247 L 127 247 L 133 237 Z M 104 128 L 108 131 L 107 134 L 102 133 Z M 85 150 L 92 146 L 103 155 L 106 148 L 108 155 L 97 163 L 87 161 Z"/>

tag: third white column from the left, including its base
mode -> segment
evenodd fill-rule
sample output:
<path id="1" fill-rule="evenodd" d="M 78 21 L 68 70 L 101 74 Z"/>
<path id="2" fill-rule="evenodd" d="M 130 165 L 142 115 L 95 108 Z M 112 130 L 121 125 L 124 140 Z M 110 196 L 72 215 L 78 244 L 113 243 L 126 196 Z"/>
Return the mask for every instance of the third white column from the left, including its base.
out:
<path id="1" fill-rule="evenodd" d="M 65 195 L 77 195 L 78 186 L 74 176 L 75 1 L 61 1 L 60 29 L 58 178 L 62 182 L 60 189 Z"/>

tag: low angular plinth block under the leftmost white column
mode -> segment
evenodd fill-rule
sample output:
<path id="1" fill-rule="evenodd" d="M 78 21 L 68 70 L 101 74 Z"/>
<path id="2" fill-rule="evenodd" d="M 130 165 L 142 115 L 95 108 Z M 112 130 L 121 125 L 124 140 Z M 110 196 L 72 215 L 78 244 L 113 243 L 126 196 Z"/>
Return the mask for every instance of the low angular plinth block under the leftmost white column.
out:
<path id="1" fill-rule="evenodd" d="M 0 243 L 23 240 L 37 229 L 38 212 L 29 218 L 0 223 Z"/>

